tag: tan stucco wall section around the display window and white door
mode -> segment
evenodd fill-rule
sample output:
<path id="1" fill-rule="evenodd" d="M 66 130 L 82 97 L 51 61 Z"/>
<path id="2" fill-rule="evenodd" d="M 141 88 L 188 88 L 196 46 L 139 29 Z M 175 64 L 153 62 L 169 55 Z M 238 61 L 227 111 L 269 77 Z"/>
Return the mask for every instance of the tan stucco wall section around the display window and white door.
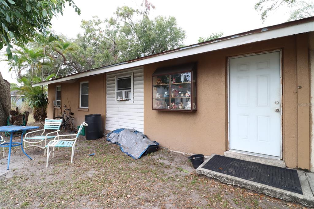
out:
<path id="1" fill-rule="evenodd" d="M 298 155 L 298 146 L 308 147 L 309 144 L 306 144 L 308 143 L 304 138 L 306 136 L 303 136 L 302 140 L 298 139 L 298 131 L 300 134 L 302 130 L 298 129 L 297 73 L 304 75 L 306 63 L 297 62 L 296 42 L 297 36 L 289 36 L 144 66 L 145 134 L 151 140 L 156 140 L 162 146 L 173 150 L 205 155 L 223 154 L 228 147 L 227 58 L 282 49 L 283 159 L 288 167 L 297 167 L 302 164 L 304 166 L 302 168 L 308 169 L 309 166 L 306 167 L 306 165 L 309 164 L 309 158 L 306 159 L 304 156 L 309 153 L 309 150 L 304 150 L 305 153 Z M 300 53 L 302 50 L 305 49 L 298 47 Z M 152 110 L 152 73 L 157 67 L 187 62 L 198 62 L 198 110 L 193 113 Z M 297 66 L 302 68 L 299 72 Z"/>

